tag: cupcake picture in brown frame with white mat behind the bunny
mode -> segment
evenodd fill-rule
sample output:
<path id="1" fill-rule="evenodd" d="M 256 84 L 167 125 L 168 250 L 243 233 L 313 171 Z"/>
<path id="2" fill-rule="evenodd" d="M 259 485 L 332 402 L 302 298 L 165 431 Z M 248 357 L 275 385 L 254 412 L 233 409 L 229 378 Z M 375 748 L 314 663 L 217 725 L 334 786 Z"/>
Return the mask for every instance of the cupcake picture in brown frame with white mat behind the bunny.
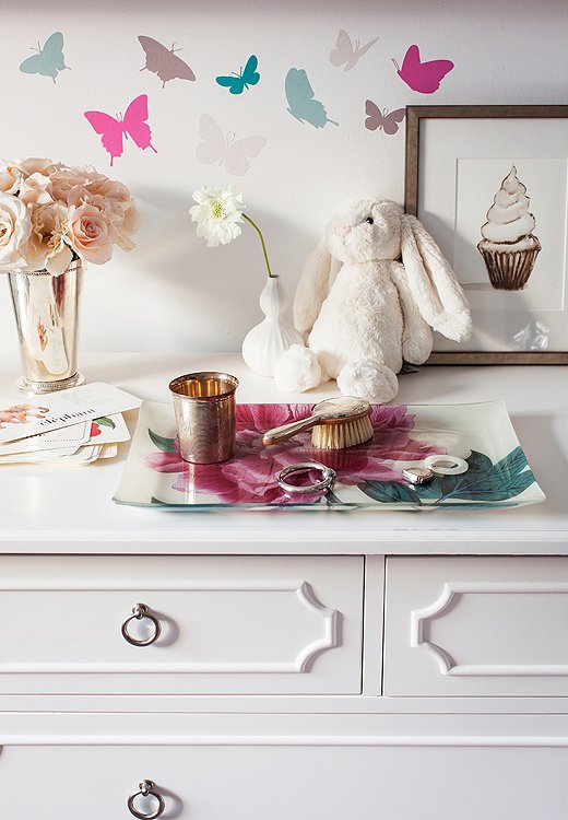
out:
<path id="1" fill-rule="evenodd" d="M 472 308 L 429 362 L 568 364 L 568 106 L 409 106 L 404 199 Z"/>

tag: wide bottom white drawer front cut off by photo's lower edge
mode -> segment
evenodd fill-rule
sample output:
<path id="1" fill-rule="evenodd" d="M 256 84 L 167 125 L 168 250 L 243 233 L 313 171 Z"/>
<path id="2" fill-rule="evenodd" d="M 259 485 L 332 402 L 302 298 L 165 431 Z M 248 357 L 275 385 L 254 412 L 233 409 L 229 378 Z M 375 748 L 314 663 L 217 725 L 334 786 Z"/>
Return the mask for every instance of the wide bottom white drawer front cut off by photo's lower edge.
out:
<path id="1" fill-rule="evenodd" d="M 560 820 L 567 769 L 565 749 L 5 747 L 0 796 L 7 820 L 132 820 L 147 778 L 164 820 Z"/>

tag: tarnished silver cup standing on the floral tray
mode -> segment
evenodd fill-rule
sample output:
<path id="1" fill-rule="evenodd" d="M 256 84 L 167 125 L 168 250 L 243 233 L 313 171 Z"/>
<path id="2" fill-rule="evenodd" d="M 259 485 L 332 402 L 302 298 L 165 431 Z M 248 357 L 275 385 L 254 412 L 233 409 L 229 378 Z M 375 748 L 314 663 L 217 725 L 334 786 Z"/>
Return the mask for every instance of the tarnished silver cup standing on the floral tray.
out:
<path id="1" fill-rule="evenodd" d="M 169 384 L 179 453 L 191 464 L 226 461 L 235 453 L 235 390 L 228 373 L 188 373 Z"/>

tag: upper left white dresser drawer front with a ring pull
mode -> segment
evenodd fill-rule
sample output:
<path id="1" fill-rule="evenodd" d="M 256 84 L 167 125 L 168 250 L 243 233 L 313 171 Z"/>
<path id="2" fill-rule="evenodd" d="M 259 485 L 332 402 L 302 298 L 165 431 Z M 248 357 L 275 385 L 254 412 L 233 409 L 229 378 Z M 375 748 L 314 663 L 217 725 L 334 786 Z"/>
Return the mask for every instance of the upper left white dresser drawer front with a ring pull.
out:
<path id="1" fill-rule="evenodd" d="M 7 557 L 0 692 L 359 693 L 362 618 L 356 557 Z"/>

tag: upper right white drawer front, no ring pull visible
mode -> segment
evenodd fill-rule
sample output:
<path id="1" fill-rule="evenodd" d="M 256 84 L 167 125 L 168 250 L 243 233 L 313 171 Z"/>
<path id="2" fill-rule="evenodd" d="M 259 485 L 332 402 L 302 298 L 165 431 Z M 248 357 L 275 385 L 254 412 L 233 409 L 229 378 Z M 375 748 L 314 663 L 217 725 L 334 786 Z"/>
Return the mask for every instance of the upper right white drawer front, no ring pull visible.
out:
<path id="1" fill-rule="evenodd" d="M 568 695 L 568 559 L 387 561 L 384 694 Z"/>

